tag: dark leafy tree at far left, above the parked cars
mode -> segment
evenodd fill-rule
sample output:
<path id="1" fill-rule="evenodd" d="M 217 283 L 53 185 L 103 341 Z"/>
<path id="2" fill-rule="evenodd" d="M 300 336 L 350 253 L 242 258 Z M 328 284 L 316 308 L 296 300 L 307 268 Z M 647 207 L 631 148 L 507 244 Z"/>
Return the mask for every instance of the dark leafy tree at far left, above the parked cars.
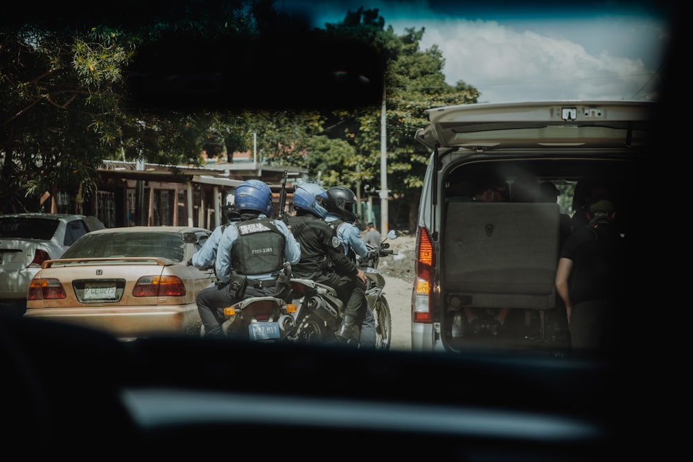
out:
<path id="1" fill-rule="evenodd" d="M 198 163 L 215 130 L 242 146 L 240 116 L 130 107 L 128 65 L 143 44 L 170 37 L 219 39 L 271 28 L 279 17 L 273 2 L 171 1 L 153 13 L 145 3 L 124 0 L 122 11 L 107 15 L 48 8 L 56 14 L 0 20 L 0 211 L 35 209 L 36 197 L 58 187 L 87 197 L 103 159 Z"/>

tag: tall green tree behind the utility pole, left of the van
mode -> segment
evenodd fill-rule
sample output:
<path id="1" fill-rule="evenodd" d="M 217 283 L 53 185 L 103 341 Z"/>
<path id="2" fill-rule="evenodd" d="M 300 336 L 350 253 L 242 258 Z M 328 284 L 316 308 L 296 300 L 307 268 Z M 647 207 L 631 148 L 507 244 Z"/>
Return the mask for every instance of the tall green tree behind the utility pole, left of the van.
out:
<path id="1" fill-rule="evenodd" d="M 445 82 L 445 60 L 437 46 L 421 51 L 424 29 L 409 28 L 397 36 L 378 10 L 349 11 L 340 24 L 328 24 L 330 33 L 363 37 L 383 49 L 387 58 L 385 78 L 387 130 L 387 187 L 392 208 L 389 222 L 416 226 L 428 152 L 414 141 L 417 128 L 427 124 L 425 110 L 432 107 L 476 103 L 478 91 L 465 82 L 450 86 Z M 342 112 L 347 117 L 349 114 Z M 355 152 L 345 162 L 342 182 L 368 181 L 380 189 L 380 107 L 365 110 L 349 124 L 347 136 Z M 405 215 L 403 217 L 402 215 Z"/>

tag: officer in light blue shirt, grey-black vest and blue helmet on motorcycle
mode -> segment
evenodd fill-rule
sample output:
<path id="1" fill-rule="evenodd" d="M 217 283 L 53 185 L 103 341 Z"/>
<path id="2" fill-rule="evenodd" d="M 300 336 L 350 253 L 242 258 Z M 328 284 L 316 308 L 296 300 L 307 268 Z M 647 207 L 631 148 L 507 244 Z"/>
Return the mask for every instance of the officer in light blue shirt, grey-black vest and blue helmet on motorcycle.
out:
<path id="1" fill-rule="evenodd" d="M 274 294 L 284 263 L 298 263 L 301 248 L 288 227 L 272 217 L 272 190 L 258 179 L 236 188 L 239 220 L 222 233 L 215 262 L 219 283 L 198 292 L 205 337 L 222 337 L 218 308 Z"/>

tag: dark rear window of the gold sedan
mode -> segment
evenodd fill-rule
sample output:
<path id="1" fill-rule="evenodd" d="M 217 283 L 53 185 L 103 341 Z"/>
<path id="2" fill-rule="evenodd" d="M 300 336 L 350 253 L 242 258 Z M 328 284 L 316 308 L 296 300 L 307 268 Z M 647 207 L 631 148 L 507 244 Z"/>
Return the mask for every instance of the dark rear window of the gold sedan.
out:
<path id="1" fill-rule="evenodd" d="M 62 258 L 158 257 L 175 262 L 185 256 L 179 233 L 89 233 L 82 236 Z"/>

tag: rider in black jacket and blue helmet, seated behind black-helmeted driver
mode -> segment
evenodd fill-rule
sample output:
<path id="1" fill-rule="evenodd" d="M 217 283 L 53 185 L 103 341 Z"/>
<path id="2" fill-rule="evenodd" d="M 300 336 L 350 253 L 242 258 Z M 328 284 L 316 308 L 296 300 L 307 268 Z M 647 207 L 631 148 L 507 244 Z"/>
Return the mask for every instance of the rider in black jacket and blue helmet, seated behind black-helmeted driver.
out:
<path id="1" fill-rule="evenodd" d="M 301 260 L 292 265 L 292 272 L 337 291 L 344 303 L 344 319 L 335 335 L 347 344 L 358 345 L 354 323 L 367 305 L 365 299 L 351 300 L 350 296 L 356 285 L 365 285 L 366 274 L 347 257 L 337 233 L 324 221 L 326 199 L 322 186 L 313 183 L 303 184 L 294 192 L 296 215 L 289 218 L 289 225 L 301 245 Z"/>

